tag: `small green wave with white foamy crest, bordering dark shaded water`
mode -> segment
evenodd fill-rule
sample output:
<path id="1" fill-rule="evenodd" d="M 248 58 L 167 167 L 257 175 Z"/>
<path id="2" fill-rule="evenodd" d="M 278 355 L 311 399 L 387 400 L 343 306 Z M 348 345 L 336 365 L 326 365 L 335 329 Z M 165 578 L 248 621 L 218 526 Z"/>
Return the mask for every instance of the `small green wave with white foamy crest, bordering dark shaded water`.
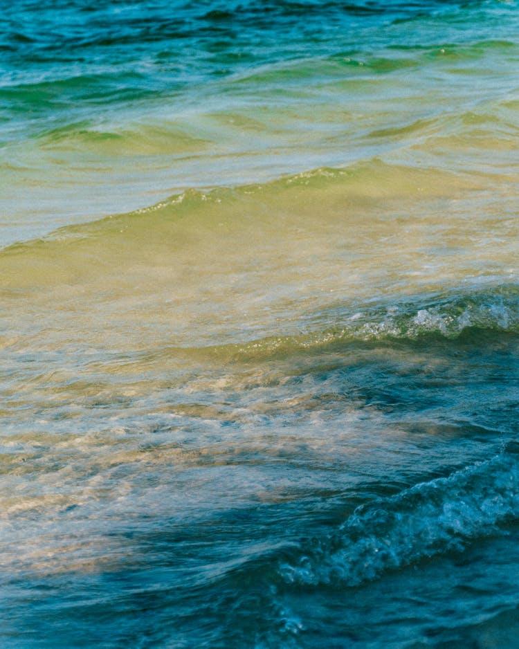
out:
<path id="1" fill-rule="evenodd" d="M 322 354 L 353 343 L 394 343 L 451 340 L 481 345 L 503 333 L 519 333 L 519 286 L 501 284 L 487 290 L 423 295 L 415 300 L 392 301 L 354 311 L 351 305 L 313 316 L 340 324 L 296 336 L 272 336 L 240 345 L 205 350 L 215 358 L 264 360 L 301 352 Z M 309 316 L 311 319 L 311 316 Z"/>

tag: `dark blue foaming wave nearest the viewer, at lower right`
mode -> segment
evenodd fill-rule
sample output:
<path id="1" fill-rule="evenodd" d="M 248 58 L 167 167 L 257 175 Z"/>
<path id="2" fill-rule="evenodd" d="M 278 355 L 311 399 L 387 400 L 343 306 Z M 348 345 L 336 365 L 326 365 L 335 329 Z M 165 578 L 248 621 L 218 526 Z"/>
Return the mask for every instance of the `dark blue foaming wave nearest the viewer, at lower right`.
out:
<path id="1" fill-rule="evenodd" d="M 280 563 L 289 584 L 353 587 L 499 533 L 519 517 L 519 444 L 448 477 L 362 505 L 340 529 Z"/>

